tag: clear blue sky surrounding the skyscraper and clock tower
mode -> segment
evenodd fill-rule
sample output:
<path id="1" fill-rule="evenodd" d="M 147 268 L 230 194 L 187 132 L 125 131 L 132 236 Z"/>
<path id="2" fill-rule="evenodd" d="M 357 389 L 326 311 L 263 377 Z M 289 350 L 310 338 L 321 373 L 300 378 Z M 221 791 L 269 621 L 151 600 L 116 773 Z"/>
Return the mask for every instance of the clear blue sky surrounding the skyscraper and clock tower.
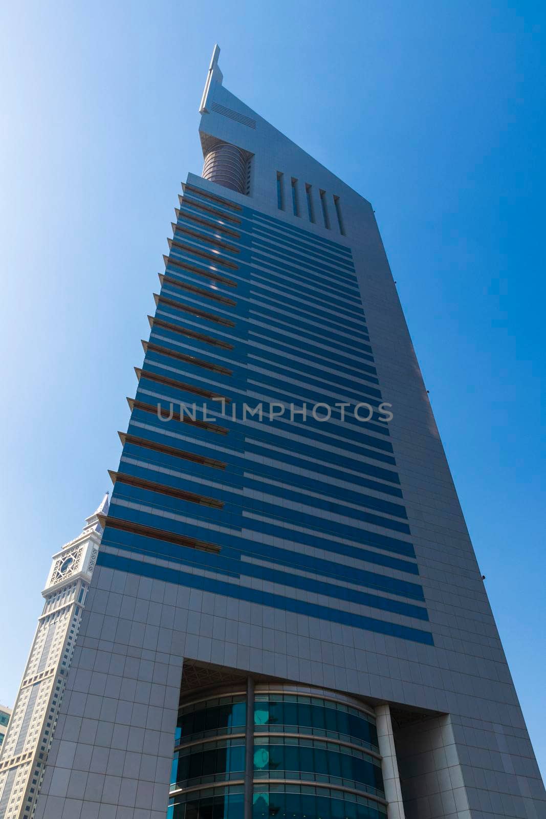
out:
<path id="1" fill-rule="evenodd" d="M 226 87 L 377 211 L 546 772 L 545 16 L 485 0 L 2 5 L 0 701 L 50 555 L 118 464 L 218 41 Z"/>

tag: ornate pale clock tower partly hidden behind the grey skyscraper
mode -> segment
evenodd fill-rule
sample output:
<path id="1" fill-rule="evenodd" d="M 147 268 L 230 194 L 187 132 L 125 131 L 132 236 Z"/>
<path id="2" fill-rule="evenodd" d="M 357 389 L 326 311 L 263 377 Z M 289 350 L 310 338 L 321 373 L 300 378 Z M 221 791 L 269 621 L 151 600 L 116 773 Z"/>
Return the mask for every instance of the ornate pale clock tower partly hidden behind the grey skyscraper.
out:
<path id="1" fill-rule="evenodd" d="M 25 673 L 0 755 L 0 819 L 30 819 L 97 562 L 108 493 L 81 534 L 53 555 Z"/>

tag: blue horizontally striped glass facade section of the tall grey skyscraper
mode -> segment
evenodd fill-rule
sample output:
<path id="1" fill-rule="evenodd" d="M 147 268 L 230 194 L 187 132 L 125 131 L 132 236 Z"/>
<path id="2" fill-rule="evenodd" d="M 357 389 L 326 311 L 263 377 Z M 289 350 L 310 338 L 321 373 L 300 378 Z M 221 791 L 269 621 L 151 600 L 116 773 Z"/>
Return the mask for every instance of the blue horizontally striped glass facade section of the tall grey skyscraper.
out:
<path id="1" fill-rule="evenodd" d="M 177 215 L 99 564 L 432 645 L 350 248 Z"/>

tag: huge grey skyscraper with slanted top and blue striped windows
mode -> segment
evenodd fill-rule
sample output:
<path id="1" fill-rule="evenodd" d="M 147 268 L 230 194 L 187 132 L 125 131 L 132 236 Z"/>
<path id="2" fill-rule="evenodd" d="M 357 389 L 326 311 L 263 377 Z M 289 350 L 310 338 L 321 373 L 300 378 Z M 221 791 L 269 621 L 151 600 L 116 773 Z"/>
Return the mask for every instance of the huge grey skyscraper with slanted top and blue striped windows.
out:
<path id="1" fill-rule="evenodd" d="M 544 817 L 372 206 L 218 53 L 36 817 Z"/>

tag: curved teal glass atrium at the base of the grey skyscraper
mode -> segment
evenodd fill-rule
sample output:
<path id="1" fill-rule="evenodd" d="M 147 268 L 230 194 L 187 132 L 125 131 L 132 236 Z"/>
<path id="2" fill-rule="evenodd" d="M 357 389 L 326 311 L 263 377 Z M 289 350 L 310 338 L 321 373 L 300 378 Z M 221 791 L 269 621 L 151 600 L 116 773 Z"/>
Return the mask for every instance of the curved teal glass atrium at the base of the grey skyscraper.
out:
<path id="1" fill-rule="evenodd" d="M 277 683 L 187 694 L 178 710 L 167 815 L 386 819 L 372 708 Z"/>

